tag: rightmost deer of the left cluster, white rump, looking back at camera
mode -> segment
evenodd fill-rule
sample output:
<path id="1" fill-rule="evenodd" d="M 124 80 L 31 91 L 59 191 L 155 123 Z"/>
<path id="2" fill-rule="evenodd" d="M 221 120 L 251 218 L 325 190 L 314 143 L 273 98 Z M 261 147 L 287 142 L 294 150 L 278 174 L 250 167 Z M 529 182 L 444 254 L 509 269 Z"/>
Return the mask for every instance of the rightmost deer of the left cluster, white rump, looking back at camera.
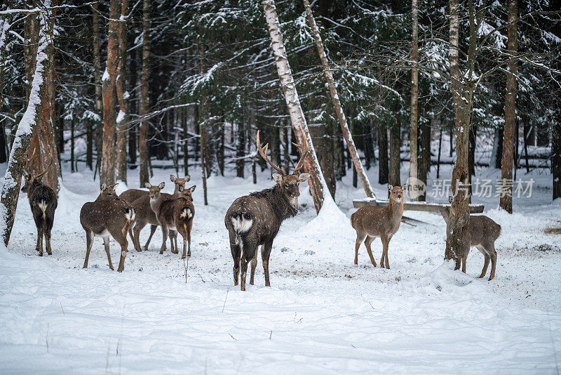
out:
<path id="1" fill-rule="evenodd" d="M 179 197 L 165 200 L 160 204 L 158 221 L 162 226 L 163 233 L 163 243 L 160 254 L 163 254 L 165 250 L 165 239 L 168 237 L 168 231 L 175 230 L 183 237 L 183 254 L 181 258 L 184 259 L 185 256 L 191 256 L 191 228 L 193 228 L 193 218 L 195 216 L 195 207 L 193 206 L 191 192 L 194 192 L 195 187 L 196 186 L 191 186 L 189 189 L 184 189 L 183 186 L 180 185 L 177 189 L 177 192 L 180 194 Z M 187 252 L 187 244 L 189 244 L 189 252 Z M 179 252 L 177 243 L 175 244 L 174 251 L 172 242 L 171 251 L 173 254 Z"/>

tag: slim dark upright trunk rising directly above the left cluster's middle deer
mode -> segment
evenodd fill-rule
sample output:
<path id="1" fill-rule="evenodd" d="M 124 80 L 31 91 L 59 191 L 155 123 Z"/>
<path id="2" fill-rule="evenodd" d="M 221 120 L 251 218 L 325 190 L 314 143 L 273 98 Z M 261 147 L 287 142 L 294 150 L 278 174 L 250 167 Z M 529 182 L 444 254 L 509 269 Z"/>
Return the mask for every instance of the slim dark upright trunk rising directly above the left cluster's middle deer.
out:
<path id="1" fill-rule="evenodd" d="M 150 0 L 144 0 L 142 6 L 142 87 L 140 99 L 140 131 L 138 135 L 138 153 L 140 162 L 140 186 L 149 182 L 149 147 L 148 119 L 145 118 L 150 107 Z"/>

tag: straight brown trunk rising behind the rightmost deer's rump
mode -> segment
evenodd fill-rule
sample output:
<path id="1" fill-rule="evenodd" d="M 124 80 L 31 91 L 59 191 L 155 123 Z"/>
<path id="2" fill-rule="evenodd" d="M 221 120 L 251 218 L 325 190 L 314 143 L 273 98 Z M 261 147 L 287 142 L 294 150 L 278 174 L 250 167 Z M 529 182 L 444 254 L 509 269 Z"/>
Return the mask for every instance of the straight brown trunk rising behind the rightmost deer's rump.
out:
<path id="1" fill-rule="evenodd" d="M 516 39 L 518 18 L 517 0 L 508 0 L 508 53 L 517 55 L 518 41 Z M 501 199 L 499 206 L 508 213 L 513 213 L 513 151 L 516 126 L 516 70 L 518 60 L 508 62 L 506 74 L 506 100 L 504 106 L 504 140 L 503 163 L 501 168 Z"/>

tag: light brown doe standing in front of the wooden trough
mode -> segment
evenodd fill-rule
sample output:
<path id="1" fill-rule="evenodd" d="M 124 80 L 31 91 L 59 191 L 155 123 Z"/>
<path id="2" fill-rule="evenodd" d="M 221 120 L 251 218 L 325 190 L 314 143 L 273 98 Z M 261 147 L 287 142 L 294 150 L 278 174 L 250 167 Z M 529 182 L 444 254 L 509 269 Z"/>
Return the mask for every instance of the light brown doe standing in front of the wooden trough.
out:
<path id="1" fill-rule="evenodd" d="M 392 186 L 388 184 L 390 191 L 390 202 L 385 207 L 364 206 L 351 215 L 351 225 L 356 230 L 355 244 L 355 264 L 358 264 L 358 248 L 360 242 L 363 242 L 370 256 L 372 265 L 376 267 L 376 261 L 372 256 L 370 244 L 374 238 L 380 237 L 381 244 L 384 247 L 381 253 L 380 267 L 390 268 L 388 261 L 388 246 L 391 237 L 396 234 L 403 216 L 403 186 Z"/>

